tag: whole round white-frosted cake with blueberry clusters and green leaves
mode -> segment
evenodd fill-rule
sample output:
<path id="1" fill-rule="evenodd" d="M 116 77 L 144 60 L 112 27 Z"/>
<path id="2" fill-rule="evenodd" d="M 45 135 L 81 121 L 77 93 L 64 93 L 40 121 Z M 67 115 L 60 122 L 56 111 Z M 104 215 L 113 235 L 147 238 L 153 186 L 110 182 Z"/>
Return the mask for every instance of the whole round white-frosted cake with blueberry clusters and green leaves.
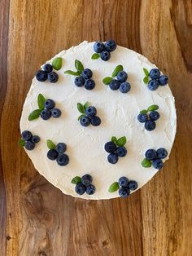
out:
<path id="1" fill-rule="evenodd" d="M 63 193 L 92 200 L 142 188 L 176 134 L 168 77 L 107 42 L 82 42 L 42 65 L 20 118 L 20 145 L 38 172 Z"/>

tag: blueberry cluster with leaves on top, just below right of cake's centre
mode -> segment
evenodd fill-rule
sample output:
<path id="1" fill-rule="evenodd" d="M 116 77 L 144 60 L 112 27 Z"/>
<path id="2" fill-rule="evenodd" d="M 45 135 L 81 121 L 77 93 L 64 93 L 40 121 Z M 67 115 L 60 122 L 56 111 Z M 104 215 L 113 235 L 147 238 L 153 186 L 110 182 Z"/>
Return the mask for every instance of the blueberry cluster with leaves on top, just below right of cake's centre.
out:
<path id="1" fill-rule="evenodd" d="M 111 164 L 116 164 L 119 160 L 119 157 L 125 157 L 127 154 L 127 149 L 124 148 L 126 143 L 126 137 L 121 137 L 116 139 L 115 136 L 111 138 L 111 141 L 105 143 L 105 151 L 110 153 L 107 157 L 107 160 Z"/>

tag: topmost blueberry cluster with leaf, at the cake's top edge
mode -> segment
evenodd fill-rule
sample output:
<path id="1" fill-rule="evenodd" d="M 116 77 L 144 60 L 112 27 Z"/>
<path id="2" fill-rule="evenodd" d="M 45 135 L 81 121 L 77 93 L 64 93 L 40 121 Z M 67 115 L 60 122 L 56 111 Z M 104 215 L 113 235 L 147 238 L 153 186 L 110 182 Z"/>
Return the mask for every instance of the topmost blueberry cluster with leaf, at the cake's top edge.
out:
<path id="1" fill-rule="evenodd" d="M 97 60 L 101 58 L 104 61 L 107 61 L 111 58 L 111 51 L 116 50 L 116 42 L 114 40 L 107 40 L 107 42 L 103 43 L 97 41 L 94 43 L 94 55 L 92 55 L 91 59 Z"/>

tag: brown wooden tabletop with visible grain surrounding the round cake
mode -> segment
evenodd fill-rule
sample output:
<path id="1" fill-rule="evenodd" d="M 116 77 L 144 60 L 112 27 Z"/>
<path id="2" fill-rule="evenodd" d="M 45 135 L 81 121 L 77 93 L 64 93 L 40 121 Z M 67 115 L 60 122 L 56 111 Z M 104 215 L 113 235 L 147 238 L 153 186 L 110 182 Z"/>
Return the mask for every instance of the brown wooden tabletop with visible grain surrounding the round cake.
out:
<path id="1" fill-rule="evenodd" d="M 125 200 L 65 196 L 18 147 L 35 71 L 79 44 L 114 38 L 167 73 L 177 105 L 169 161 Z M 0 1 L 0 255 L 192 255 L 192 3 L 177 0 Z"/>

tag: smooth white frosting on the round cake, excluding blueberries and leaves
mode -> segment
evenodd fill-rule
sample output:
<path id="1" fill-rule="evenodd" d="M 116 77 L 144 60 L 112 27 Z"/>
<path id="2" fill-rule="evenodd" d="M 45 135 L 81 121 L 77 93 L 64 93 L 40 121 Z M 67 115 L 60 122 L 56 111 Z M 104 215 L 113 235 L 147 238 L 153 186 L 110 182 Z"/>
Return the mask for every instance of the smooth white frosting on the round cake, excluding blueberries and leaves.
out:
<path id="1" fill-rule="evenodd" d="M 33 78 L 32 86 L 24 102 L 20 119 L 20 130 L 30 130 L 33 135 L 39 135 L 33 151 L 27 151 L 35 168 L 50 183 L 59 188 L 63 193 L 85 199 L 109 199 L 119 196 L 118 192 L 108 192 L 111 183 L 118 181 L 121 176 L 134 179 L 141 188 L 157 172 L 153 167 L 144 168 L 141 162 L 149 148 L 166 148 L 171 152 L 172 143 L 176 134 L 176 109 L 174 98 L 169 86 L 159 86 L 155 91 L 148 90 L 142 82 L 144 73 L 142 68 L 155 68 L 144 56 L 122 46 L 117 46 L 111 53 L 111 59 L 91 60 L 94 42 L 82 42 L 79 46 L 67 51 L 61 51 L 57 56 L 63 58 L 63 67 L 57 71 L 59 81 L 56 83 L 38 82 Z M 53 58 L 54 59 L 54 58 Z M 74 85 L 74 76 L 64 74 L 65 70 L 76 70 L 75 60 L 81 60 L 85 68 L 93 71 L 96 83 L 94 90 L 85 90 L 84 87 Z M 51 63 L 47 61 L 47 63 Z M 131 90 L 122 94 L 120 90 L 110 90 L 102 82 L 103 77 L 111 76 L 118 64 L 124 66 L 124 71 L 129 73 L 128 81 Z M 41 93 L 46 99 L 54 99 L 56 107 L 62 111 L 59 118 L 51 117 L 44 121 L 40 117 L 28 121 L 28 114 L 37 108 L 37 95 Z M 100 126 L 83 127 L 77 118 L 80 113 L 76 108 L 78 102 L 84 104 L 89 101 L 98 110 L 98 117 L 102 119 Z M 151 104 L 159 105 L 160 118 L 156 121 L 156 129 L 147 131 L 144 124 L 137 121 L 137 114 Z M 116 165 L 107 161 L 108 153 L 104 144 L 111 136 L 126 136 L 128 142 L 126 157 L 119 158 Z M 56 161 L 46 157 L 48 148 L 46 139 L 55 143 L 67 144 L 67 154 L 70 159 L 68 166 L 58 166 Z M 167 158 L 168 159 L 168 158 Z M 96 187 L 94 195 L 86 193 L 79 196 L 71 180 L 75 176 L 91 174 Z M 158 181 L 157 181 L 158 182 Z"/>

